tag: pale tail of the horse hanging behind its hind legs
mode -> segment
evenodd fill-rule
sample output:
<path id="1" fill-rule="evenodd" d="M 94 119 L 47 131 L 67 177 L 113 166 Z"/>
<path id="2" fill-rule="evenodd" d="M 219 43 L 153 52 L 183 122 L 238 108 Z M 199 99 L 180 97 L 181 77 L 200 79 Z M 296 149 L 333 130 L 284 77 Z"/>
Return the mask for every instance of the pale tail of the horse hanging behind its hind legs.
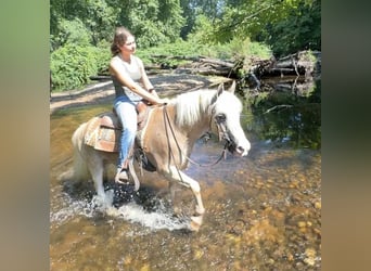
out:
<path id="1" fill-rule="evenodd" d="M 86 130 L 88 122 L 81 124 L 72 137 L 72 143 L 74 146 L 74 169 L 73 179 L 75 181 L 85 181 L 89 179 L 88 166 L 82 157 L 84 147 L 84 131 Z"/>

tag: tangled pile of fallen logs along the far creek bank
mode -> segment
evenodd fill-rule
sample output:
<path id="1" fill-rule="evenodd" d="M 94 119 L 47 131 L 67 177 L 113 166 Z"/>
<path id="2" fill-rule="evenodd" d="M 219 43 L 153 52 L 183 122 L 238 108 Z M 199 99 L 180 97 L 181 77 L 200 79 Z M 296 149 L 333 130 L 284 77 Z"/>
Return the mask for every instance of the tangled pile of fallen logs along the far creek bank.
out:
<path id="1" fill-rule="evenodd" d="M 302 76 L 306 79 L 320 73 L 321 52 L 300 51 L 276 60 L 261 60 L 257 57 L 236 59 L 234 61 L 225 61 L 210 59 L 206 56 L 184 56 L 184 55 L 151 55 L 155 59 L 162 59 L 157 64 L 145 65 L 149 75 L 166 73 L 165 70 L 177 69 L 184 74 L 200 74 L 205 76 L 223 76 L 228 78 L 242 79 L 247 85 L 259 89 L 260 80 L 267 77 Z M 186 61 L 181 64 L 169 64 L 168 60 Z M 248 63 L 248 64 L 246 64 Z M 110 77 L 104 73 L 98 76 L 91 76 L 92 80 L 107 80 Z"/>

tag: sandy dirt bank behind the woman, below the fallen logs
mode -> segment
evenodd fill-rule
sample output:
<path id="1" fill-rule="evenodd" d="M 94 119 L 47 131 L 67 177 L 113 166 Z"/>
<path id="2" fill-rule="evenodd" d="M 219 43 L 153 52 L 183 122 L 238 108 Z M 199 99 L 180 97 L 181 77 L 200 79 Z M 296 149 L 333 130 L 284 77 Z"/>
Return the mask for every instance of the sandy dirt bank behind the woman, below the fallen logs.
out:
<path id="1" fill-rule="evenodd" d="M 225 77 L 206 77 L 190 74 L 163 74 L 149 76 L 159 96 L 172 96 L 202 88 L 216 88 L 227 81 Z M 110 81 L 92 83 L 82 90 L 51 93 L 50 114 L 56 109 L 106 103 L 114 100 L 115 90 Z"/>

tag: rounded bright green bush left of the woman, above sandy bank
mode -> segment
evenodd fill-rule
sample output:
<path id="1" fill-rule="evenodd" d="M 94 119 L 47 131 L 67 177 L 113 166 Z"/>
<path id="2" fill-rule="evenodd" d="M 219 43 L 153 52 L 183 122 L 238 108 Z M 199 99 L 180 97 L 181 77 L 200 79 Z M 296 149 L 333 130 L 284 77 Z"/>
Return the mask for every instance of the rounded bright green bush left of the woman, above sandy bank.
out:
<path id="1" fill-rule="evenodd" d="M 74 89 L 90 81 L 104 63 L 108 65 L 106 52 L 95 47 L 80 47 L 73 43 L 51 54 L 51 77 L 54 90 Z"/>

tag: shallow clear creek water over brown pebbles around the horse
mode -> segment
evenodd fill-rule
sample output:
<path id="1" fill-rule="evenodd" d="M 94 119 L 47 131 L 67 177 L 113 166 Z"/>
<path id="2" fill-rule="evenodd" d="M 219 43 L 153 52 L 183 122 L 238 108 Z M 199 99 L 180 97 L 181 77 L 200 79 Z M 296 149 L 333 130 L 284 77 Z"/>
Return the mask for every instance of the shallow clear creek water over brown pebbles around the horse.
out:
<path id="1" fill-rule="evenodd" d="M 71 137 L 111 104 L 60 109 L 50 120 L 51 270 L 320 270 L 320 83 L 305 93 L 241 91 L 248 156 L 228 155 L 212 167 L 190 165 L 206 208 L 199 232 L 187 230 L 193 195 L 179 188 L 172 215 L 167 182 L 140 176 L 141 189 L 106 188 L 103 211 L 91 181 L 63 178 L 72 167 Z M 191 158 L 208 164 L 222 143 L 201 139 Z"/>

